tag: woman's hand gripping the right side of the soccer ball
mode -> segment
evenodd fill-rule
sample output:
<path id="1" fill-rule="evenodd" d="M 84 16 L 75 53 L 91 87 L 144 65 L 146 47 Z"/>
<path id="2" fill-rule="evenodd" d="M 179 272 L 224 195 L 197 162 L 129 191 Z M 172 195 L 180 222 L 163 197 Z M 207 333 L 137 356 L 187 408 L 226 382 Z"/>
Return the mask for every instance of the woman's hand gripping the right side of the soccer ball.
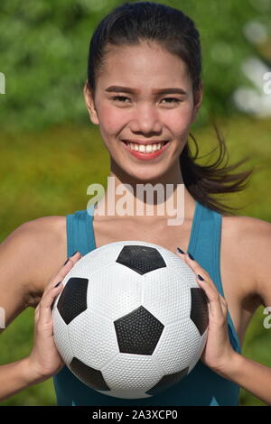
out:
<path id="1" fill-rule="evenodd" d="M 201 268 L 199 263 L 192 258 L 192 255 L 190 257 L 189 253 L 179 253 L 178 250 L 177 253 L 195 273 L 197 282 L 208 299 L 209 330 L 201 361 L 213 371 L 220 373 L 225 365 L 229 367 L 230 361 L 236 354 L 229 342 L 226 300 L 220 296 L 214 282 L 210 279 L 209 273 Z M 202 281 L 199 275 L 203 278 Z"/>

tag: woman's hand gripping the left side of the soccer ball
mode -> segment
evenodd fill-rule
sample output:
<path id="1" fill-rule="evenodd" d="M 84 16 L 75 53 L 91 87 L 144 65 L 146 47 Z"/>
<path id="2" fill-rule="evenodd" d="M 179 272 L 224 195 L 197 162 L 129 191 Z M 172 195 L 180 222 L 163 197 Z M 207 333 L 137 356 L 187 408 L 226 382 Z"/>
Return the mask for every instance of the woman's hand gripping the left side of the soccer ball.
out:
<path id="1" fill-rule="evenodd" d="M 74 253 L 61 270 L 51 276 L 43 292 L 42 300 L 35 310 L 33 350 L 28 356 L 29 368 L 35 383 L 41 383 L 50 378 L 64 365 L 53 339 L 51 308 L 53 301 L 63 289 L 61 281 L 80 258 L 81 253 Z"/>

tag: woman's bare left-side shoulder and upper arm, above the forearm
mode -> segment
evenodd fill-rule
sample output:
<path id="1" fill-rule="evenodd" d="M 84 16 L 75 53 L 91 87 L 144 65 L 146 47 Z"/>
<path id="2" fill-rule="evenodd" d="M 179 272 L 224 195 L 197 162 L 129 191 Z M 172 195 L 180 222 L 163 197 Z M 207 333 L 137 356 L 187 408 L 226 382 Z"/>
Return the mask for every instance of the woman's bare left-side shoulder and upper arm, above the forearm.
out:
<path id="1" fill-rule="evenodd" d="M 0 244 L 0 307 L 5 310 L 5 327 L 27 307 L 37 306 L 47 281 L 65 262 L 63 234 L 65 217 L 42 217 L 25 222 Z"/>

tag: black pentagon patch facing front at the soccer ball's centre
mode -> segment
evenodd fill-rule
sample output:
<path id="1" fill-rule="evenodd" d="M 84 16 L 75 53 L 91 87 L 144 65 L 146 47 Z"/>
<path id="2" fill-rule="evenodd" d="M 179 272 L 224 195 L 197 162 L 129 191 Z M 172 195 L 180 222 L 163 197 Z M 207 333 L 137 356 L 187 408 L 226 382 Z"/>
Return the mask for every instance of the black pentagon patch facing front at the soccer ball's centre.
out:
<path id="1" fill-rule="evenodd" d="M 123 354 L 152 355 L 164 325 L 143 306 L 114 322 L 119 351 Z"/>

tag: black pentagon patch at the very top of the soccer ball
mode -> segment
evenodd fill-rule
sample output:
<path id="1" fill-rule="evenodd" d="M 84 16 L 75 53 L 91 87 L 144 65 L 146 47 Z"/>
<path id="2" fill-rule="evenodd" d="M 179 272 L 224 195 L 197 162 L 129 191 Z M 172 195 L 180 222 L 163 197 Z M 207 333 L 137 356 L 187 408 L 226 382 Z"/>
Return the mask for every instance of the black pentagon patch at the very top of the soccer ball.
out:
<path id="1" fill-rule="evenodd" d="M 124 246 L 116 262 L 141 275 L 166 266 L 163 257 L 154 247 L 141 245 Z"/>

